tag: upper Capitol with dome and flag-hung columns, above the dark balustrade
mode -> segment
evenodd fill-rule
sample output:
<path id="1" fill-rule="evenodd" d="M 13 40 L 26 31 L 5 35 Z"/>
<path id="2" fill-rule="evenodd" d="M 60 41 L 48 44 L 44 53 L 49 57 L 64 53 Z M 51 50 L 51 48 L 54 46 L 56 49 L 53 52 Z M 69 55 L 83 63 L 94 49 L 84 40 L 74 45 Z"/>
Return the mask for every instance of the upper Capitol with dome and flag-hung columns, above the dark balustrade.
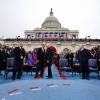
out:
<path id="1" fill-rule="evenodd" d="M 78 39 L 78 30 L 69 30 L 68 28 L 62 28 L 58 19 L 53 16 L 52 8 L 49 17 L 47 17 L 41 25 L 41 28 L 35 28 L 34 30 L 25 30 L 25 38 L 28 39 L 44 39 L 44 40 L 56 40 L 56 39 Z"/>

